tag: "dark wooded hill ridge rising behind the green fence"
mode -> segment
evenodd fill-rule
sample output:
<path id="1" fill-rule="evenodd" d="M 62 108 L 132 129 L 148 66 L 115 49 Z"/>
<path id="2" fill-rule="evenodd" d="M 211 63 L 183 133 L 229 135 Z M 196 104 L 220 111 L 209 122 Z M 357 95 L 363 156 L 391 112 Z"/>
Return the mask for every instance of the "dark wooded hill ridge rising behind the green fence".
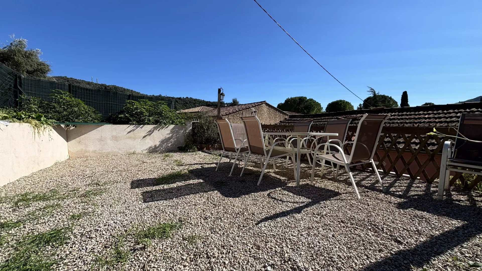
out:
<path id="1" fill-rule="evenodd" d="M 134 95 L 147 95 L 125 87 L 120 87 L 116 85 L 99 84 L 99 83 L 75 79 L 67 76 L 49 76 L 49 79 L 54 81 L 59 81 L 59 82 L 71 83 L 71 84 L 78 85 L 81 87 L 86 87 L 86 88 L 105 89 L 105 90 L 117 91 L 121 93 L 134 94 Z M 150 95 L 147 95 L 147 96 L 150 96 Z M 200 107 L 200 106 L 217 108 L 217 101 L 211 102 L 211 101 L 206 101 L 206 100 L 196 99 L 191 97 L 171 97 L 171 96 L 164 96 L 164 95 L 158 95 L 158 96 L 163 97 L 165 99 L 174 100 L 174 109 L 176 110 L 182 110 L 186 108 L 193 108 L 193 107 Z M 224 102 L 221 102 L 221 106 L 225 106 Z"/>

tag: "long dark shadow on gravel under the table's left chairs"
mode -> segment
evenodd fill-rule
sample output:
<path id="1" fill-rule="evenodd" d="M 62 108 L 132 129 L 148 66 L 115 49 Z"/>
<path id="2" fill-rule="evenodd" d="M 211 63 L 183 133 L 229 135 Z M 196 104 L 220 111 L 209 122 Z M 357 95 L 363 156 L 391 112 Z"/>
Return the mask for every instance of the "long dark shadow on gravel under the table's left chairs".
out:
<path id="1" fill-rule="evenodd" d="M 228 176 L 229 171 L 214 171 L 215 166 L 196 168 L 188 171 L 191 179 L 199 179 L 202 182 L 180 185 L 165 189 L 149 190 L 142 193 L 143 202 L 156 202 L 172 200 L 187 195 L 218 191 L 228 198 L 238 198 L 251 193 L 281 188 L 287 185 L 285 181 L 278 178 L 263 176 L 260 186 L 256 183 L 261 171 L 249 168 L 244 170 L 242 177 L 239 175 Z"/>

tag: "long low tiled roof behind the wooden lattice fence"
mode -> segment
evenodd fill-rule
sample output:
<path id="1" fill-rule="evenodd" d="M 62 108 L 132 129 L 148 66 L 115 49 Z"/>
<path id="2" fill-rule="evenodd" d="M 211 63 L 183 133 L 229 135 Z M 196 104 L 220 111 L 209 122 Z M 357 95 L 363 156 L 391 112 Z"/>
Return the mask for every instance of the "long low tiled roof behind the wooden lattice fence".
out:
<path id="1" fill-rule="evenodd" d="M 447 104 L 433 106 L 416 106 L 404 108 L 373 108 L 349 110 L 332 113 L 311 115 L 290 115 L 279 124 L 294 124 L 313 120 L 314 125 L 325 125 L 327 121 L 338 117 L 349 118 L 368 114 L 389 114 L 386 126 L 428 126 L 428 127 L 456 127 L 461 113 L 482 113 L 482 102 L 462 104 Z M 354 119 L 350 125 L 358 125 Z"/>

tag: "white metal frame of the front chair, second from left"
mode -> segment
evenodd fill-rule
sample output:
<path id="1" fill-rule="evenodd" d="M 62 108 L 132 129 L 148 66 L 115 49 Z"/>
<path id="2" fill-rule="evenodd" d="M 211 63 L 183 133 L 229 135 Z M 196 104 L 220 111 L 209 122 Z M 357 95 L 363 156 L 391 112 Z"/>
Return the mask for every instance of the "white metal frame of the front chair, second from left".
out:
<path id="1" fill-rule="evenodd" d="M 258 119 L 257 116 L 254 116 L 254 118 L 255 118 L 255 120 L 242 120 L 242 121 L 243 121 L 243 122 L 258 122 L 259 131 L 260 131 L 260 134 L 261 134 L 261 135 L 260 135 L 260 138 L 261 138 L 261 140 L 263 140 L 263 145 L 264 145 L 264 144 L 265 144 L 265 142 L 264 142 L 265 140 L 263 139 L 263 130 L 262 130 L 262 128 L 261 128 L 261 122 L 259 121 L 259 119 Z M 277 139 L 283 139 L 283 140 L 282 140 L 282 141 L 274 142 L 274 143 L 269 147 L 269 152 L 268 152 L 268 154 L 266 153 L 267 148 L 263 148 L 263 150 L 264 150 L 264 156 L 263 156 L 263 155 L 260 155 L 260 154 L 257 154 L 257 153 L 253 153 L 253 152 L 251 151 L 251 146 L 250 146 L 250 144 L 249 144 L 249 136 L 248 136 L 248 132 L 246 131 L 246 124 L 245 124 L 245 126 L 244 126 L 244 130 L 245 130 L 245 133 L 246 133 L 246 137 L 248 138 L 248 139 L 246 139 L 246 140 L 248 141 L 248 144 L 247 144 L 247 145 L 248 145 L 248 150 L 249 150 L 249 152 L 248 152 L 248 156 L 247 156 L 246 159 L 244 160 L 244 165 L 243 165 L 243 167 L 242 167 L 240 176 L 242 176 L 242 174 L 243 174 L 243 172 L 244 172 L 244 168 L 246 167 L 246 163 L 248 162 L 248 160 L 249 160 L 249 158 L 250 158 L 251 155 L 256 156 L 256 157 L 259 157 L 260 159 L 265 159 L 265 163 L 264 163 L 263 168 L 261 169 L 261 175 L 259 176 L 259 180 L 258 180 L 258 183 L 257 183 L 257 185 L 259 186 L 259 184 L 261 183 L 261 179 L 263 178 L 263 175 L 264 175 L 264 173 L 265 173 L 266 166 L 268 165 L 269 160 L 274 160 L 274 159 L 276 159 L 276 158 L 283 157 L 283 156 L 295 157 L 295 149 L 296 149 L 296 148 L 293 146 L 293 143 L 291 143 L 291 142 L 289 142 L 289 141 L 284 141 L 284 138 L 282 138 L 282 137 L 277 137 L 277 138 L 275 138 L 275 139 L 273 140 L 273 142 L 276 141 Z M 273 149 L 275 149 L 276 145 L 281 144 L 281 143 L 290 144 L 290 145 L 291 145 L 291 148 L 292 148 L 292 152 L 291 152 L 291 153 L 287 152 L 287 153 L 285 153 L 285 154 L 281 154 L 281 155 L 277 155 L 277 156 L 271 156 L 271 153 L 273 152 Z M 283 148 L 283 149 L 284 149 L 284 148 Z M 273 164 L 274 164 L 274 161 L 273 161 Z M 296 178 L 296 167 L 293 167 L 293 172 L 294 172 L 295 178 Z"/>

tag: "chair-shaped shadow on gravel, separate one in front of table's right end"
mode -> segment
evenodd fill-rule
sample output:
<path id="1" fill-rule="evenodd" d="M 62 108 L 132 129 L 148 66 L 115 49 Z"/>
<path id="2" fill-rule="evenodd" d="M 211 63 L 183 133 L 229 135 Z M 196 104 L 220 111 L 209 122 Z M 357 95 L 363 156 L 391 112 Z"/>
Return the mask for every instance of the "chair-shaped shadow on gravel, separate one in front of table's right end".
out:
<path id="1" fill-rule="evenodd" d="M 335 198 L 335 197 L 341 195 L 340 192 L 337 192 L 335 190 L 320 188 L 320 187 L 316 187 L 316 186 L 313 186 L 313 185 L 310 185 L 310 184 L 301 184 L 299 187 L 287 186 L 287 187 L 283 187 L 282 190 L 285 190 L 285 191 L 290 192 L 290 193 L 292 193 L 294 195 L 297 195 L 297 196 L 305 197 L 305 198 L 307 198 L 311 201 L 308 202 L 308 203 L 305 203 L 301 206 L 295 207 L 293 209 L 286 210 L 286 211 L 271 215 L 269 217 L 265 217 L 265 218 L 259 220 L 258 222 L 256 222 L 255 225 L 259 225 L 259 224 L 267 222 L 269 220 L 275 220 L 275 219 L 278 219 L 278 218 L 281 218 L 281 217 L 287 217 L 287 216 L 290 216 L 290 215 L 293 215 L 293 214 L 300 214 L 303 210 L 305 210 L 308 207 L 311 207 L 313 205 L 316 205 L 316 204 L 324 202 L 324 201 L 328 201 L 332 198 Z M 277 200 L 277 201 L 282 201 L 280 199 L 277 199 L 277 198 L 273 197 L 271 195 L 271 193 L 272 192 L 268 193 L 268 196 L 270 198 L 272 198 L 274 200 Z"/>

